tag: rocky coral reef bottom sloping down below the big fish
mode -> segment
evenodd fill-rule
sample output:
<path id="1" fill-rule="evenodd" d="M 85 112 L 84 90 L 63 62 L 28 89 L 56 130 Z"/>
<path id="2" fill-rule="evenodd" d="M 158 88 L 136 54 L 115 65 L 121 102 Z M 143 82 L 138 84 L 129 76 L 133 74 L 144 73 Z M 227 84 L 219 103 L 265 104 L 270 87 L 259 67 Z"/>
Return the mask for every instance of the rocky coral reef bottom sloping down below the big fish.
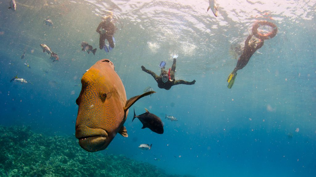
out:
<path id="1" fill-rule="evenodd" d="M 123 155 L 88 153 L 74 137 L 44 136 L 30 127 L 0 126 L 2 177 L 178 177 Z"/>

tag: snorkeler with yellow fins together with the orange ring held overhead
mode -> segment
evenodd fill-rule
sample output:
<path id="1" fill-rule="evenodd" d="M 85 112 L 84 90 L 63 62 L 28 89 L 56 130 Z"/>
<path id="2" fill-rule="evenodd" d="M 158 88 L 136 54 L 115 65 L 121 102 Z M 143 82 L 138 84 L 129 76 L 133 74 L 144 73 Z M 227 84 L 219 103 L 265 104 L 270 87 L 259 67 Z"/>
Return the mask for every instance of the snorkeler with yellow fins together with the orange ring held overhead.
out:
<path id="1" fill-rule="evenodd" d="M 267 34 L 261 34 L 260 32 L 258 32 L 258 28 L 260 25 L 270 26 L 272 28 L 272 31 L 270 31 L 270 33 L 267 33 Z M 274 37 L 276 33 L 277 33 L 276 25 L 268 21 L 258 21 L 252 26 L 252 34 L 250 34 L 245 41 L 244 51 L 240 55 L 237 61 L 236 67 L 229 74 L 227 78 L 228 88 L 233 87 L 235 78 L 237 76 L 237 71 L 241 70 L 247 65 L 251 56 L 263 46 L 264 40 Z"/>

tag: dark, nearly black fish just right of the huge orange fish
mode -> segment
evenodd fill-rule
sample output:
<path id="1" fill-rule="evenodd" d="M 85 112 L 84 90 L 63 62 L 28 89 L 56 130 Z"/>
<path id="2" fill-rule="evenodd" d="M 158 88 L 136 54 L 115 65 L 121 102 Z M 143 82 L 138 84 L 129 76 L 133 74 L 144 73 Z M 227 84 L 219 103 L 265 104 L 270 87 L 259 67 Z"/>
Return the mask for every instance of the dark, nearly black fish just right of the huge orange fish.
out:
<path id="1" fill-rule="evenodd" d="M 161 119 L 155 114 L 150 113 L 146 108 L 146 112 L 136 116 L 134 108 L 134 117 L 133 120 L 137 117 L 141 123 L 143 123 L 143 128 L 149 128 L 151 131 L 157 134 L 163 134 L 163 124 Z M 132 120 L 132 122 L 133 122 Z"/>

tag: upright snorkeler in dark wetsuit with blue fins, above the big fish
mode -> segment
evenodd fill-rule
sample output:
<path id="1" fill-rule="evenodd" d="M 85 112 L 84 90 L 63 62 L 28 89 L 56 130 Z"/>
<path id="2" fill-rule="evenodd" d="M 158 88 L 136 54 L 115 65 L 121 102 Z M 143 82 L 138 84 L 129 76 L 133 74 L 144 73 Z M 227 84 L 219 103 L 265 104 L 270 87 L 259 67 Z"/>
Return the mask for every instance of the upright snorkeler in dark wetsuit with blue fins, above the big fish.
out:
<path id="1" fill-rule="evenodd" d="M 101 30 L 100 30 L 101 29 Z M 110 47 L 114 48 L 113 35 L 116 30 L 112 22 L 112 17 L 107 16 L 105 20 L 101 21 L 97 28 L 97 32 L 100 34 L 99 47 L 100 49 L 104 48 L 105 39 L 109 42 Z"/>

